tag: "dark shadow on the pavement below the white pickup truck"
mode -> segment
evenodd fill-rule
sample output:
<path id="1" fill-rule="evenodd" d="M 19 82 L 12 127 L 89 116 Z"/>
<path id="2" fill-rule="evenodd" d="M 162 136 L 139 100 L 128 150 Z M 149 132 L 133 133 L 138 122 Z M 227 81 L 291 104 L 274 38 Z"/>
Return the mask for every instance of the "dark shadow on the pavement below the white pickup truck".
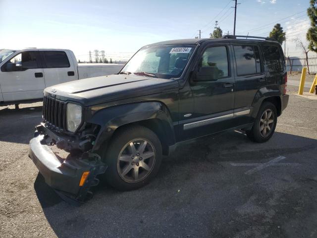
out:
<path id="1" fill-rule="evenodd" d="M 0 141 L 28 144 L 42 120 L 42 106 L 0 110 Z"/>

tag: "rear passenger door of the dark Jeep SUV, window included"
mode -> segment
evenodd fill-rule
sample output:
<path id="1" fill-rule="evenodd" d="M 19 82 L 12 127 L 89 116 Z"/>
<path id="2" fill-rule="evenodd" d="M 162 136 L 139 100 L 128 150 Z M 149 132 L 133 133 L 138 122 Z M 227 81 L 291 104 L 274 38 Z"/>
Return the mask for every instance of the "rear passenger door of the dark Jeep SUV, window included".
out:
<path id="1" fill-rule="evenodd" d="M 266 85 L 263 59 L 258 44 L 232 46 L 235 58 L 235 125 L 249 123 L 252 103 L 258 90 Z"/>

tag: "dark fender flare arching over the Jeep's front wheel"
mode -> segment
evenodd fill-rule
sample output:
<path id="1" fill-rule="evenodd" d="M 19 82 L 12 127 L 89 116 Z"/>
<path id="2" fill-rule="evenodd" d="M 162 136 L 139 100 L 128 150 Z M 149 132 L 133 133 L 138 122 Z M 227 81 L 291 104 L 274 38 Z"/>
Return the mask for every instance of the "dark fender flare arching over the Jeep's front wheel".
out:
<path id="1" fill-rule="evenodd" d="M 164 143 L 176 143 L 173 121 L 167 107 L 157 101 L 117 105 L 95 113 L 87 122 L 101 126 L 92 151 L 98 150 L 120 126 L 149 119 L 159 120 Z M 161 139 L 161 138 L 160 138 Z"/>

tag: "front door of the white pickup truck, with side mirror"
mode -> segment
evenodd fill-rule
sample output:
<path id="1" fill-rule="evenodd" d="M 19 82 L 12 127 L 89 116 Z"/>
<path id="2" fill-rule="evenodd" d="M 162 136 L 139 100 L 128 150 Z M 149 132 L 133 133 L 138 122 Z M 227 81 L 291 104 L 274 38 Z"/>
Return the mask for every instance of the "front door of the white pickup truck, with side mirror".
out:
<path id="1" fill-rule="evenodd" d="M 7 71 L 8 63 L 16 63 Z M 1 66 L 0 86 L 4 102 L 43 98 L 45 88 L 43 68 L 36 50 L 20 52 Z"/>

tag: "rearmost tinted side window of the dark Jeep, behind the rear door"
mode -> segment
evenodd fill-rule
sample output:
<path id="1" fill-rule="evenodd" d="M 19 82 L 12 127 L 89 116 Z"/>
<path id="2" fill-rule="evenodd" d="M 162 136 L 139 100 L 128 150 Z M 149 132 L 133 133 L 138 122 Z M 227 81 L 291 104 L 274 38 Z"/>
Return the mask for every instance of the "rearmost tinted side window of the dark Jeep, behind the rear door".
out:
<path id="1" fill-rule="evenodd" d="M 276 46 L 263 46 L 266 67 L 269 72 L 280 72 L 283 68 L 279 48 Z"/>

